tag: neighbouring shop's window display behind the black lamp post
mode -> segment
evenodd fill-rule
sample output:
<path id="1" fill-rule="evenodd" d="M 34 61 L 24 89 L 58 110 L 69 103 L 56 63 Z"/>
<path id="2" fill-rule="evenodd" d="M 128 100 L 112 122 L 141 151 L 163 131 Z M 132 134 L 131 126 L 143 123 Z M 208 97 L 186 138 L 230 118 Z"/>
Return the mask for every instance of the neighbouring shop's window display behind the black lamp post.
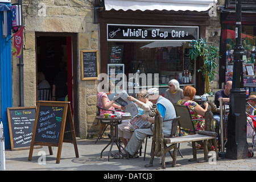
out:
<path id="1" fill-rule="evenodd" d="M 221 48 L 220 55 L 220 88 L 227 80 L 232 80 L 234 46 L 236 45 L 236 10 L 235 1 L 226 0 L 225 8 L 221 10 Z M 242 46 L 243 46 L 243 82 L 256 82 L 256 3 L 242 1 Z"/>

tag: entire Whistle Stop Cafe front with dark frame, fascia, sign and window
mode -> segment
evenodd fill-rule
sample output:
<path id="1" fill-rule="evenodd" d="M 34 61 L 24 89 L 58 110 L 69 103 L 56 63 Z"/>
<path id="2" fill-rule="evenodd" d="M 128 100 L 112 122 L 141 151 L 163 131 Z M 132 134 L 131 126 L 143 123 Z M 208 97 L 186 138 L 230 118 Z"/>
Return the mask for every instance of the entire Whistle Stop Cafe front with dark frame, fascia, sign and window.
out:
<path id="1" fill-rule="evenodd" d="M 100 23 L 100 72 L 115 83 L 115 94 L 158 87 L 164 95 L 172 79 L 204 94 L 197 72 L 202 63 L 189 59 L 188 50 L 192 40 L 205 38 L 208 12 L 123 10 L 94 10 L 94 23 Z"/>

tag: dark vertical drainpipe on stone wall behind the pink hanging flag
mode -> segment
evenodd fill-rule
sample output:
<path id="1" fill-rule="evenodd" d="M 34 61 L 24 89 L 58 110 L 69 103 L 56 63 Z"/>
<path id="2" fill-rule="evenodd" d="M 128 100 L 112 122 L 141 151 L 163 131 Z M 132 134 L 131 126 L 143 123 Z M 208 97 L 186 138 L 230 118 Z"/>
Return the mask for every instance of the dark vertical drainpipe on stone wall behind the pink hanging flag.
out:
<path id="1" fill-rule="evenodd" d="M 22 0 L 19 0 L 19 6 L 20 6 L 20 16 L 21 16 L 21 24 L 19 28 L 23 27 L 23 13 L 22 13 Z M 19 59 L 19 64 L 17 64 L 19 67 L 19 106 L 24 106 L 24 69 L 23 69 L 23 42 L 22 42 L 22 53 Z"/>

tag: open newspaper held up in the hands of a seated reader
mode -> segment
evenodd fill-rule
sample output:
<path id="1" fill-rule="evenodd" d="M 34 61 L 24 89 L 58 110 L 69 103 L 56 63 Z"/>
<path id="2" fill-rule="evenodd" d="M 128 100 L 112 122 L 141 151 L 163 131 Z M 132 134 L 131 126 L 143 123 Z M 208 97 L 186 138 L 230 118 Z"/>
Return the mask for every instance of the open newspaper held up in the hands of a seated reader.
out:
<path id="1" fill-rule="evenodd" d="M 138 114 L 137 106 L 134 104 L 133 101 L 128 101 L 127 97 L 127 92 L 123 90 L 121 93 L 115 96 L 113 100 L 117 102 L 119 105 L 125 107 L 126 113 L 131 113 L 131 116 L 134 117 Z"/>

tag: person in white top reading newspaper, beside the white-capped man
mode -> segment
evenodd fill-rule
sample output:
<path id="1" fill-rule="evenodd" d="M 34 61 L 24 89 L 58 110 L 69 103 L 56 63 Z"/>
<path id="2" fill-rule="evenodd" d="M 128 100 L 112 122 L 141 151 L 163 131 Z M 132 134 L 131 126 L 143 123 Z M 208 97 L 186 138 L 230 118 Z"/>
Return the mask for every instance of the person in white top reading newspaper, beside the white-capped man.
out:
<path id="1" fill-rule="evenodd" d="M 147 90 L 142 89 L 138 93 L 138 99 L 134 98 L 133 96 L 127 97 L 127 100 L 133 101 L 135 104 L 141 107 L 141 109 L 144 110 L 144 114 L 141 115 L 141 118 L 145 121 L 149 117 L 148 113 L 153 105 L 152 102 L 148 101 L 148 98 L 144 98 L 146 94 Z M 118 137 L 121 139 L 125 147 L 129 142 L 131 135 L 133 135 L 133 133 L 130 122 L 122 122 L 120 125 L 118 125 Z"/>

